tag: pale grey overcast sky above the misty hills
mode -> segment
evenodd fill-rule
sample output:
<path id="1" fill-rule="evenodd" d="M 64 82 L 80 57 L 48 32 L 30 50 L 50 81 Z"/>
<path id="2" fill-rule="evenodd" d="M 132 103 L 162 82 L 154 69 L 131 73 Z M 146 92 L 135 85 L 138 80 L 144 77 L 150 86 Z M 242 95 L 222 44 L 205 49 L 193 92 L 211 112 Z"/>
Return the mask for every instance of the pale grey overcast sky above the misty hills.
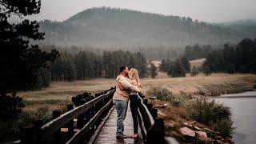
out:
<path id="1" fill-rule="evenodd" d="M 62 21 L 91 7 L 121 7 L 205 22 L 256 19 L 256 0 L 42 0 L 35 19 Z"/>

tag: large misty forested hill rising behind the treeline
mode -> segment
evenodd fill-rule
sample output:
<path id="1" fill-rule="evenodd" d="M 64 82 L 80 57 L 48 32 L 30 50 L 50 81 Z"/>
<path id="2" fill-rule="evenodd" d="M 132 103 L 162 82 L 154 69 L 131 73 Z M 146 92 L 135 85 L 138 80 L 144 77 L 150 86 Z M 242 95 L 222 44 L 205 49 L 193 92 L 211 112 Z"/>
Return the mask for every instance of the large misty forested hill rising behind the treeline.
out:
<path id="1" fill-rule="evenodd" d="M 240 30 L 191 18 L 134 10 L 92 8 L 63 22 L 40 22 L 44 42 L 76 46 L 186 46 L 222 44 L 246 37 Z"/>

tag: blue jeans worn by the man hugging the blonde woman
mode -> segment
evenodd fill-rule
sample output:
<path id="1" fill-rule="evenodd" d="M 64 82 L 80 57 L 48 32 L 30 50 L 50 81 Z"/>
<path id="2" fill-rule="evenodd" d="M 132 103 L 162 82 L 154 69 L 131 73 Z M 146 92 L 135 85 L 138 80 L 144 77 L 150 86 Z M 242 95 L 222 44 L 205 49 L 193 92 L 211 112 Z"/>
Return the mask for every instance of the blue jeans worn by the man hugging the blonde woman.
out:
<path id="1" fill-rule="evenodd" d="M 116 135 L 121 136 L 124 131 L 123 121 L 126 118 L 128 102 L 122 101 L 122 100 L 116 100 L 116 99 L 114 99 L 113 102 L 114 102 L 114 106 L 115 106 L 115 108 L 117 110 L 117 114 L 118 114 Z"/>

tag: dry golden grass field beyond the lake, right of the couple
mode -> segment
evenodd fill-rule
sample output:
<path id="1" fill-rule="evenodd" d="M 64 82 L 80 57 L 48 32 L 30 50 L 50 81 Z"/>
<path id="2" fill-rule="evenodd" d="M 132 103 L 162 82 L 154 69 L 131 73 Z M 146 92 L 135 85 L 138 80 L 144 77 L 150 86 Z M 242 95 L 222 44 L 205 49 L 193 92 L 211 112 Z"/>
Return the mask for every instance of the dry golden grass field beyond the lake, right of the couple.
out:
<path id="1" fill-rule="evenodd" d="M 143 79 L 146 90 L 161 86 L 170 90 L 174 95 L 204 95 L 216 96 L 220 94 L 238 93 L 253 90 L 256 83 L 255 74 L 212 74 L 205 76 L 199 74 L 196 77 L 167 78 L 160 73 L 156 79 Z"/>

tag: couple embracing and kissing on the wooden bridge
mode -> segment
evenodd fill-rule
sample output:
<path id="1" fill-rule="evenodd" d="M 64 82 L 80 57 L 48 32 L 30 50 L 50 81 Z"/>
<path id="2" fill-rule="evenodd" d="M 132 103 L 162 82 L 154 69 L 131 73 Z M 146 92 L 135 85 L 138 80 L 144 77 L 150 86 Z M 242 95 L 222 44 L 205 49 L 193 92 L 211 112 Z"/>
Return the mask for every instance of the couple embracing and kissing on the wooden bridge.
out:
<path id="1" fill-rule="evenodd" d="M 138 70 L 133 68 L 129 71 L 127 66 L 121 66 L 120 74 L 116 81 L 116 91 L 113 97 L 114 106 L 118 114 L 116 138 L 138 138 L 138 102 L 141 101 L 138 93 L 140 92 L 139 88 L 142 87 L 138 79 Z M 123 121 L 126 118 L 129 99 L 130 110 L 134 120 L 134 134 L 126 136 L 123 134 Z"/>

